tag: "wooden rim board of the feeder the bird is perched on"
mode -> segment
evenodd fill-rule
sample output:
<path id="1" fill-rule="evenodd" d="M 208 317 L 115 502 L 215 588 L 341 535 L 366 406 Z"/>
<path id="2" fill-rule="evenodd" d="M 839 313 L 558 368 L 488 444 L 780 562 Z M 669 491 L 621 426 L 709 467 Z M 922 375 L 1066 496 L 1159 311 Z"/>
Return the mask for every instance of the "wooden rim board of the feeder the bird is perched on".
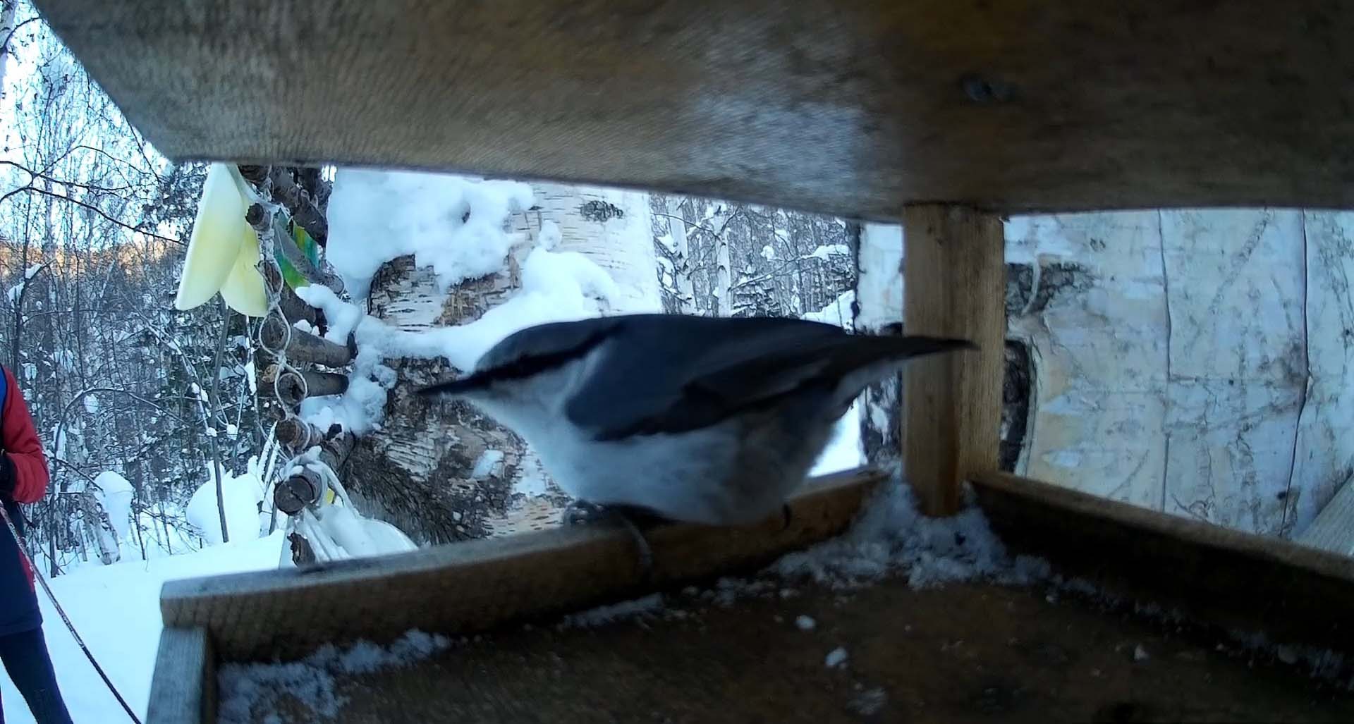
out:
<path id="1" fill-rule="evenodd" d="M 789 502 L 788 526 L 776 516 L 746 528 L 655 528 L 647 533 L 654 555 L 647 585 L 762 566 L 830 539 L 850 525 L 884 479 L 872 470 L 811 479 Z M 645 586 L 628 532 L 556 528 L 314 568 L 169 581 L 160 612 L 167 628 L 206 629 L 219 660 L 288 659 L 325 643 L 387 643 L 410 628 L 482 631 L 617 599 Z"/>

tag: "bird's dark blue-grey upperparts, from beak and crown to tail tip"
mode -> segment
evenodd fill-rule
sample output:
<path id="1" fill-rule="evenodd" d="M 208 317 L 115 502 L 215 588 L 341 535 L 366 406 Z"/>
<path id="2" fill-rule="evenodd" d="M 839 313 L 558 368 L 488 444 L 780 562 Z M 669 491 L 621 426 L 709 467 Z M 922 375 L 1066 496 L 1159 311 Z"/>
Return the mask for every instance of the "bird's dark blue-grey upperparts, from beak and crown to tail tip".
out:
<path id="1" fill-rule="evenodd" d="M 634 314 L 524 329 L 486 352 L 473 375 L 422 392 L 468 391 L 598 352 L 565 413 L 597 440 L 617 440 L 709 426 L 784 395 L 833 390 L 881 361 L 965 348 L 972 342 L 848 334 L 802 319 Z"/>

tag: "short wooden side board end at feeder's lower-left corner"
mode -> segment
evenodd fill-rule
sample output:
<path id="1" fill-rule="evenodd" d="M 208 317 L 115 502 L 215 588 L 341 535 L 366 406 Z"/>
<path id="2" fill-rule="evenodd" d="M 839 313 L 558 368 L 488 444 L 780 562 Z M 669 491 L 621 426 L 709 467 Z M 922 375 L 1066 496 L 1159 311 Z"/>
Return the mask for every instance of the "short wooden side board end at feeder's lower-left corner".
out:
<path id="1" fill-rule="evenodd" d="M 146 724 L 217 721 L 215 660 L 207 629 L 165 627 L 150 679 Z"/>

